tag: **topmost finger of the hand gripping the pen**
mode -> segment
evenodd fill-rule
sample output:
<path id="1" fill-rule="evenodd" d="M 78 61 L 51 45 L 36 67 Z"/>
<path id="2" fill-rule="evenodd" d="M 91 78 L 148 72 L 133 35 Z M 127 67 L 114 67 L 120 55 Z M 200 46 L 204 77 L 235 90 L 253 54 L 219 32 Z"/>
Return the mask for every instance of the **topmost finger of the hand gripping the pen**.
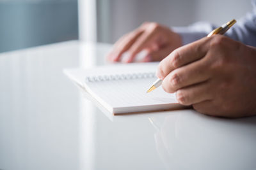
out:
<path id="1" fill-rule="evenodd" d="M 159 63 L 157 77 L 163 80 L 174 69 L 204 57 L 208 49 L 207 41 L 209 38 L 202 38 L 174 50 Z"/>

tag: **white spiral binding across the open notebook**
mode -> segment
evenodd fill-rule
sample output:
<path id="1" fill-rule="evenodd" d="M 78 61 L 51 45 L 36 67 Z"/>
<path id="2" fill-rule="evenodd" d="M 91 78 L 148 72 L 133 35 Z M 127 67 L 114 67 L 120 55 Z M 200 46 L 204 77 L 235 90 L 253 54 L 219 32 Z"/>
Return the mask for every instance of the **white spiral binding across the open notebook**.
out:
<path id="1" fill-rule="evenodd" d="M 114 81 L 114 80 L 131 80 L 131 79 L 141 79 L 141 78 L 154 78 L 154 72 L 147 73 L 134 73 L 134 74 L 111 74 L 102 76 L 87 76 L 85 78 L 86 82 L 97 82 L 97 81 Z"/>

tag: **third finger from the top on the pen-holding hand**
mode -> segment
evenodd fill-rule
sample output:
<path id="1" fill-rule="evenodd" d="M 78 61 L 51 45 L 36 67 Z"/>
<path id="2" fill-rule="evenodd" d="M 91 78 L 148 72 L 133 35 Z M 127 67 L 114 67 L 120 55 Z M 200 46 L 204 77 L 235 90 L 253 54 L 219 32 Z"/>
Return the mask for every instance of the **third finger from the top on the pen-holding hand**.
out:
<path id="1" fill-rule="evenodd" d="M 177 90 L 176 99 L 180 104 L 187 106 L 211 100 L 213 98 L 211 89 L 212 87 L 209 81 L 204 81 L 202 83 Z"/>

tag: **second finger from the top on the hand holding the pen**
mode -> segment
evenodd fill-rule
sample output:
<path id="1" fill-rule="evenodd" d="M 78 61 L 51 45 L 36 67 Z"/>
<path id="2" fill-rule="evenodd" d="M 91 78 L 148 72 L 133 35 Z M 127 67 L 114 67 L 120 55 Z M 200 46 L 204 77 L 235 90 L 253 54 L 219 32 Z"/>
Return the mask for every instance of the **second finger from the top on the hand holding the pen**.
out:
<path id="1" fill-rule="evenodd" d="M 207 60 L 204 58 L 179 67 L 164 78 L 162 85 L 167 92 L 172 93 L 189 85 L 209 80 L 211 73 L 207 69 L 208 65 Z"/>

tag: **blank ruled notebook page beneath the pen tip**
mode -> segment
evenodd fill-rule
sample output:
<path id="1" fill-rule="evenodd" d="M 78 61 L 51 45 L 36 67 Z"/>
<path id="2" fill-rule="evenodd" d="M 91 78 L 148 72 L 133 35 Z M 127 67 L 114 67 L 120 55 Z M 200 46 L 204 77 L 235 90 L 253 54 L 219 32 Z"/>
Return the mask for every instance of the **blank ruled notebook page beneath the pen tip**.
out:
<path id="1" fill-rule="evenodd" d="M 175 94 L 164 92 L 162 87 L 146 93 L 156 78 L 132 80 L 97 81 L 86 83 L 88 88 L 112 108 L 129 108 L 136 106 L 161 105 L 177 103 Z"/>

